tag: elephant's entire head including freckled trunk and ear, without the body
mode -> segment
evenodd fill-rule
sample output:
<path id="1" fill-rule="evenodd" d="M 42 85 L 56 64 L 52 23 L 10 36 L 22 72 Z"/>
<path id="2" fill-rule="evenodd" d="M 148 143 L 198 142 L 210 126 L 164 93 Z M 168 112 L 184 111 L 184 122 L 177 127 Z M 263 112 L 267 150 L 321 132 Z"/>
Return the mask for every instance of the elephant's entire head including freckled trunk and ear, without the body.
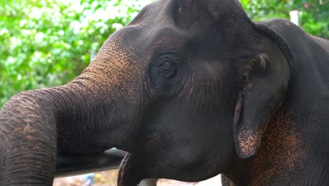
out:
<path id="1" fill-rule="evenodd" d="M 56 152 L 111 147 L 129 151 L 118 185 L 226 173 L 257 154 L 285 97 L 286 58 L 285 41 L 237 1 L 155 1 L 75 80 L 7 102 L 0 183 L 51 184 Z"/>

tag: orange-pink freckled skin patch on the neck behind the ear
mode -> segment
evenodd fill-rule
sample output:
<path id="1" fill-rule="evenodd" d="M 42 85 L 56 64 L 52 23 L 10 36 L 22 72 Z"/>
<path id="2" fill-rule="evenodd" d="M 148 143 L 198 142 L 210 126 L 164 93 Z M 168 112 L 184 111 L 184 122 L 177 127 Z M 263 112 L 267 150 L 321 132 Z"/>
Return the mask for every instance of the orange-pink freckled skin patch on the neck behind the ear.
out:
<path id="1" fill-rule="evenodd" d="M 292 122 L 293 113 L 275 113 L 264 134 L 258 156 L 253 160 L 252 185 L 266 183 L 274 176 L 289 175 L 302 168 L 308 156 L 304 133 Z"/>

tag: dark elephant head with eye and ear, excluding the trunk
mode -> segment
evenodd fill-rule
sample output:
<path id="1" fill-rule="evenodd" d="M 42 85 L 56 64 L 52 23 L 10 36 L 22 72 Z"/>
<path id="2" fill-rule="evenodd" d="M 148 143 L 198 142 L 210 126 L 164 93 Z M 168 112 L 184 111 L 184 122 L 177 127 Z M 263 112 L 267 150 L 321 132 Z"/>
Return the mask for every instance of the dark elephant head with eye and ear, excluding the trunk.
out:
<path id="1" fill-rule="evenodd" d="M 130 26 L 151 99 L 118 185 L 205 180 L 257 154 L 290 80 L 285 40 L 237 1 L 156 1 Z"/>

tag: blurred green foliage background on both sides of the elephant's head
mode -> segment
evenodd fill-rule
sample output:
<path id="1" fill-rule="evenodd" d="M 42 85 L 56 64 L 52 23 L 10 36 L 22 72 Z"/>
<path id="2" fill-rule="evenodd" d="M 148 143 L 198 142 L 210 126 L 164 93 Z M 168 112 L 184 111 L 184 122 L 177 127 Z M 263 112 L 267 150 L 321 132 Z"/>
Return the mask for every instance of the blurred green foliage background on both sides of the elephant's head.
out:
<path id="1" fill-rule="evenodd" d="M 153 0 L 0 0 L 0 108 L 17 92 L 63 85 Z M 289 18 L 329 38 L 328 0 L 240 0 L 253 20 Z"/>

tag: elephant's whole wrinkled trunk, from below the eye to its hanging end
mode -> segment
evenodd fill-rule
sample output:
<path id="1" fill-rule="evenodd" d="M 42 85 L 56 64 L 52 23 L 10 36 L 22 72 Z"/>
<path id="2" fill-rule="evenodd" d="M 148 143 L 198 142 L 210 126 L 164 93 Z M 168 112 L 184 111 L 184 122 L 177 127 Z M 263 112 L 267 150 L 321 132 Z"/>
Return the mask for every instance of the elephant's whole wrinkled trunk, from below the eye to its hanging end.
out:
<path id="1" fill-rule="evenodd" d="M 94 61 L 67 85 L 21 92 L 5 104 L 0 111 L 0 185 L 51 185 L 56 153 L 134 145 L 136 89 L 127 85 L 129 80 L 124 84 L 97 68 Z"/>

